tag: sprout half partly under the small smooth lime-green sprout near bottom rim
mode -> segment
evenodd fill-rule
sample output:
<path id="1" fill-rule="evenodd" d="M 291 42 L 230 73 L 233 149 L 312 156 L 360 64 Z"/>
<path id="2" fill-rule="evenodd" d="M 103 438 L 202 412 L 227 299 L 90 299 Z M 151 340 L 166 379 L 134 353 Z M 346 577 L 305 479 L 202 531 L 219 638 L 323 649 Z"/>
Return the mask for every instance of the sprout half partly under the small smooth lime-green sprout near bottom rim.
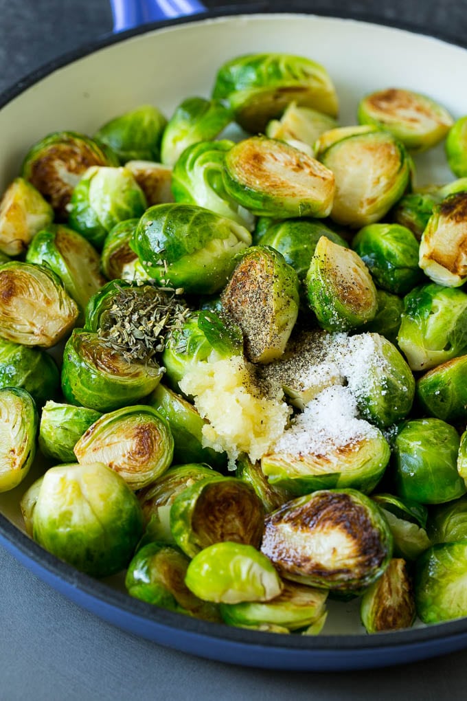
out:
<path id="1" fill-rule="evenodd" d="M 221 616 L 229 625 L 280 625 L 296 630 L 312 625 L 325 613 L 328 592 L 284 582 L 278 597 L 270 601 L 241 601 L 221 604 Z"/>

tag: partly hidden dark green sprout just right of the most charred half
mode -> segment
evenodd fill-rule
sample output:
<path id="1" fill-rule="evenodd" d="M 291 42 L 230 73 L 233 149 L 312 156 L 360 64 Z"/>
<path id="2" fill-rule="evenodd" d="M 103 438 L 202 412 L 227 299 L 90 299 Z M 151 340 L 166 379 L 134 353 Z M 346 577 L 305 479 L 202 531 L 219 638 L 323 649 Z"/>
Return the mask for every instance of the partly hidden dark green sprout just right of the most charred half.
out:
<path id="1" fill-rule="evenodd" d="M 391 494 L 374 494 L 372 499 L 381 508 L 391 529 L 394 541 L 394 554 L 408 560 L 415 560 L 431 545 L 426 533 L 426 506 Z"/>

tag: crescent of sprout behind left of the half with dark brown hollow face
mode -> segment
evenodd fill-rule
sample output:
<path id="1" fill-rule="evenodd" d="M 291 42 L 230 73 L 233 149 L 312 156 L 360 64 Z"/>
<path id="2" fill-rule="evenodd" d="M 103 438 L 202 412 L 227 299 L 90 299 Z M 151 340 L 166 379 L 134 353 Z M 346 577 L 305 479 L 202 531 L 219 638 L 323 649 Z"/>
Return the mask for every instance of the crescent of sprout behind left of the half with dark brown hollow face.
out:
<path id="1" fill-rule="evenodd" d="M 175 543 L 170 530 L 170 510 L 175 498 L 188 486 L 193 486 L 201 479 L 213 477 L 222 475 L 211 470 L 208 465 L 175 465 L 146 489 L 141 489 L 138 498 L 143 510 L 146 538 L 160 540 L 162 543 Z"/>

